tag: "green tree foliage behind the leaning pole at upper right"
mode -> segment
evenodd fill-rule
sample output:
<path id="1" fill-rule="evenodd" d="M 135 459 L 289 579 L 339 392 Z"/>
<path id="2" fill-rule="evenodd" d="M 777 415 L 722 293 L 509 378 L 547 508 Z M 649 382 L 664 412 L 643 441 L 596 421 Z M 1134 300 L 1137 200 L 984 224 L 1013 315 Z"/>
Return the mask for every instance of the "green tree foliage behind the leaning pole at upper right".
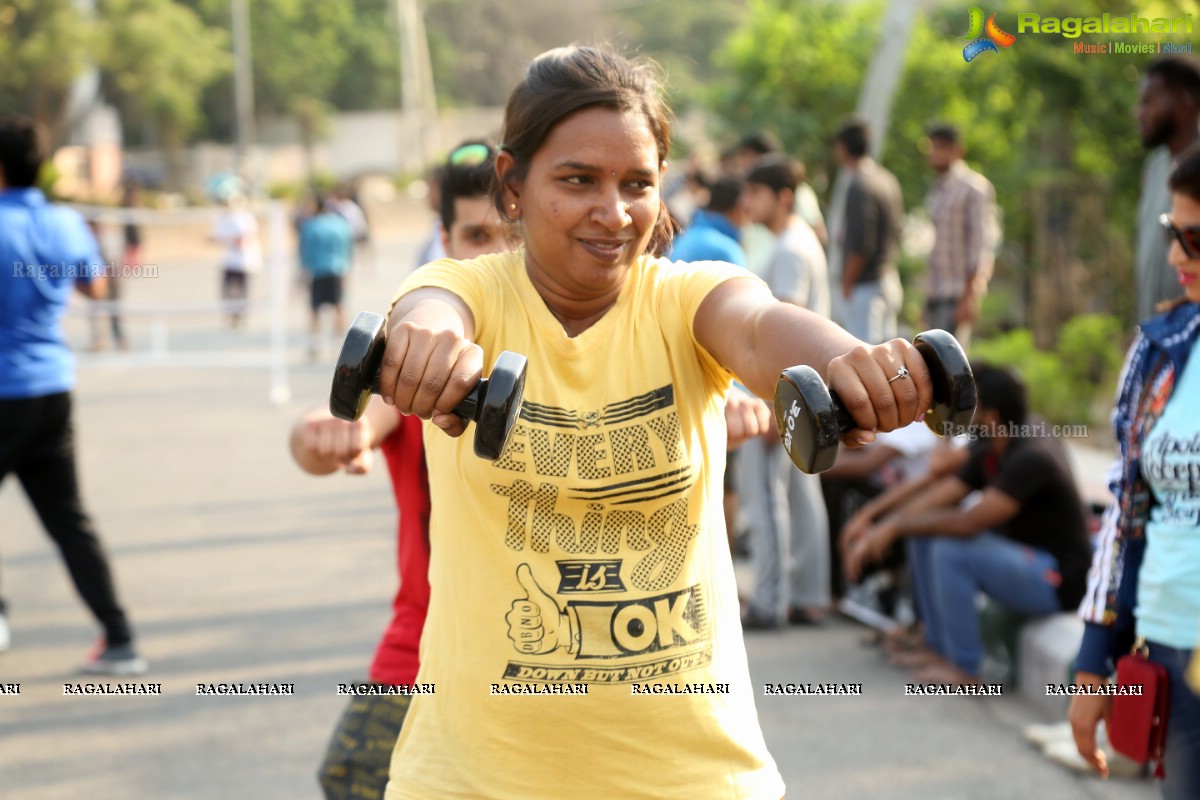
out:
<path id="1" fill-rule="evenodd" d="M 1038 11 L 1146 17 L 1180 16 L 1182 7 L 1060 0 Z M 881 11 L 871 0 L 751 0 L 742 28 L 718 55 L 727 76 L 710 103 L 727 121 L 724 134 L 774 130 L 809 161 L 810 173 L 832 173 L 829 142 L 853 113 L 866 64 L 884 35 Z M 1015 13 L 1028 4 L 1007 0 L 989 11 L 1015 34 Z M 1106 309 L 1128 319 L 1145 157 L 1132 109 L 1151 56 L 1076 54 L 1069 38 L 1026 32 L 1013 47 L 967 64 L 966 28 L 961 4 L 935 6 L 913 28 L 882 157 L 900 180 L 907 207 L 919 206 L 932 184 L 920 148 L 926 126 L 956 124 L 968 163 L 992 181 L 1003 210 L 1007 246 L 997 271 L 1016 284 L 1020 301 L 1009 324 L 1033 324 L 1044 342 L 1074 313 Z"/>

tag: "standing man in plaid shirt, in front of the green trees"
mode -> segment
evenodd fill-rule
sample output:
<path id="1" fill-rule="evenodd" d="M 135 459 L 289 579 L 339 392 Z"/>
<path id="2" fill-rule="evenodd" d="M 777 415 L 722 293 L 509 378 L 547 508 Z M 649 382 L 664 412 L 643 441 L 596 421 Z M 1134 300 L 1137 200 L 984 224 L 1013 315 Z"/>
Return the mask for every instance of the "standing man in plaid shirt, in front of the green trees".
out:
<path id="1" fill-rule="evenodd" d="M 966 347 L 991 277 L 996 192 L 962 161 L 958 128 L 929 131 L 929 166 L 937 173 L 925 205 L 934 224 L 925 291 L 925 324 L 954 333 Z"/>

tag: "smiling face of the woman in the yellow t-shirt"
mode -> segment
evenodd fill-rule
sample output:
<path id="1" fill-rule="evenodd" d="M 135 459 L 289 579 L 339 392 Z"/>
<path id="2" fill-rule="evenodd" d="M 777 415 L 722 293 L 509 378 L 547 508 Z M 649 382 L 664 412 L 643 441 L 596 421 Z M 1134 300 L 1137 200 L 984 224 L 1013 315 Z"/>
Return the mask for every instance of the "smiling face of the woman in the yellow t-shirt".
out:
<path id="1" fill-rule="evenodd" d="M 500 154 L 502 174 L 508 158 Z M 550 283 L 563 300 L 619 290 L 654 231 L 660 179 L 658 145 L 642 114 L 589 108 L 559 122 L 524 180 L 505 194 L 505 204 L 517 206 L 510 213 L 524 223 L 535 283 Z"/>

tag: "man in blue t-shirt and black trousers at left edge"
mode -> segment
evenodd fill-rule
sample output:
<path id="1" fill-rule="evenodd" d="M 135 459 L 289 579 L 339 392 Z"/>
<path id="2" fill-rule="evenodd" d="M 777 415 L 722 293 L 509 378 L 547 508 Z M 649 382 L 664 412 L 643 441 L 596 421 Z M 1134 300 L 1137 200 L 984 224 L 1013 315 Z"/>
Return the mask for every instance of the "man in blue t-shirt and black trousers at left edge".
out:
<path id="1" fill-rule="evenodd" d="M 34 122 L 0 116 L 0 481 L 8 473 L 59 546 L 79 596 L 104 628 L 84 672 L 137 675 L 146 663 L 116 599 L 104 548 L 79 499 L 61 320 L 72 289 L 104 296 L 103 263 L 83 217 L 37 188 L 46 160 Z M 0 600 L 0 650 L 8 626 Z"/>

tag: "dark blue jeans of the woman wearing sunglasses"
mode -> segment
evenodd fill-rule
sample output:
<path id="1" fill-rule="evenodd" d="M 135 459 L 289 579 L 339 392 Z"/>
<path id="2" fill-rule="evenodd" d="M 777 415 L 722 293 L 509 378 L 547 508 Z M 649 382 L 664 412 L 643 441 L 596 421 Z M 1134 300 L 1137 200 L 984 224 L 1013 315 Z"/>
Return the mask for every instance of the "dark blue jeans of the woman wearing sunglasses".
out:
<path id="1" fill-rule="evenodd" d="M 1171 710 L 1166 716 L 1166 751 L 1163 769 L 1166 777 L 1159 784 L 1164 800 L 1200 798 L 1200 697 L 1188 686 L 1184 675 L 1192 650 L 1176 650 L 1153 642 L 1150 660 L 1166 667 L 1170 676 Z"/>

